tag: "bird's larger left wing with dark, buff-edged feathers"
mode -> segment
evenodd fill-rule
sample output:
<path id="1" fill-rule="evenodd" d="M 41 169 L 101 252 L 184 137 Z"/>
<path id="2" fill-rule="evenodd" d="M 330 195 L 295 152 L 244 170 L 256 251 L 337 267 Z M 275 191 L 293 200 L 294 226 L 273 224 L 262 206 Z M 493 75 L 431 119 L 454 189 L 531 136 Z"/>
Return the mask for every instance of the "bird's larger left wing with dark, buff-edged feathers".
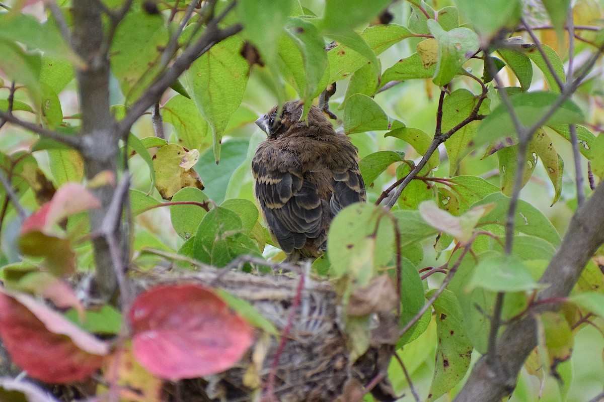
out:
<path id="1" fill-rule="evenodd" d="M 321 233 L 321 198 L 316 185 L 304 180 L 297 155 L 262 143 L 252 160 L 252 174 L 266 222 L 285 253 Z"/>

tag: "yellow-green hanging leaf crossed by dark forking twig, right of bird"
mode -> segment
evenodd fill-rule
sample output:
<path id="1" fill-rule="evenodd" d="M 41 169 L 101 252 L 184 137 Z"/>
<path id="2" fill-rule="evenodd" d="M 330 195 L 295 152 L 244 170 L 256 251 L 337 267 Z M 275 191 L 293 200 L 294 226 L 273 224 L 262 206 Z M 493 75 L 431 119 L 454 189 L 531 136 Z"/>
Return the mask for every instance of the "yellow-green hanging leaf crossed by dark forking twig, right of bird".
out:
<path id="1" fill-rule="evenodd" d="M 442 132 L 446 133 L 464 121 L 472 113 L 477 102 L 478 96 L 467 89 L 457 89 L 451 92 L 449 96 L 445 96 L 445 99 L 443 99 Z M 488 107 L 489 104 L 485 101 L 481 105 L 481 110 Z M 481 110 L 479 110 L 479 113 L 481 113 Z M 455 174 L 461 159 L 472 150 L 470 144 L 474 140 L 479 124 L 478 121 L 470 122 L 455 131 L 455 134 L 446 140 L 445 148 L 449 156 L 449 175 Z"/>

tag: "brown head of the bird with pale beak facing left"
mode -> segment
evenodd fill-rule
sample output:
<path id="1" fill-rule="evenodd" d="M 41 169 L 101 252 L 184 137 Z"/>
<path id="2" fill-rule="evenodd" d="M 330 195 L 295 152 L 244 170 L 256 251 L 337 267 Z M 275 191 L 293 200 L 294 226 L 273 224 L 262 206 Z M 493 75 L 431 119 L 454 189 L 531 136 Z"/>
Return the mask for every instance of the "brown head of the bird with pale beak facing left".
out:
<path id="1" fill-rule="evenodd" d="M 311 106 L 308 114 L 308 124 L 300 121 L 303 104 L 299 101 L 289 101 L 283 104 L 281 113 L 278 106 L 273 107 L 264 116 L 255 121 L 256 125 L 269 138 L 289 137 L 291 135 L 312 136 L 314 128 L 333 131 L 332 124 L 323 112 L 316 106 Z M 310 129 L 310 130 L 309 130 Z"/>

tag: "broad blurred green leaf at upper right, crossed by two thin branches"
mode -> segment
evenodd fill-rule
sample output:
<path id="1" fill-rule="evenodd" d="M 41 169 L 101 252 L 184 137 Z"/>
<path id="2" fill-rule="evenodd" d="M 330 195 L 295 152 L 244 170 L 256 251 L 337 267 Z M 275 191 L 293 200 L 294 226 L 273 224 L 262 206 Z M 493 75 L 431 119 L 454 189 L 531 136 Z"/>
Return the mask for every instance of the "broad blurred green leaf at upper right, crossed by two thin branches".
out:
<path id="1" fill-rule="evenodd" d="M 556 102 L 560 95 L 552 92 L 524 92 L 512 96 L 512 105 L 518 116 L 518 120 L 524 127 L 530 127 L 542 118 Z M 547 119 L 547 125 L 580 123 L 584 120 L 583 112 L 570 99 L 562 102 L 562 105 Z M 506 105 L 498 105 L 492 113 L 478 126 L 476 135 L 477 142 L 495 142 L 504 136 L 515 133 L 515 128 L 507 112 Z"/>

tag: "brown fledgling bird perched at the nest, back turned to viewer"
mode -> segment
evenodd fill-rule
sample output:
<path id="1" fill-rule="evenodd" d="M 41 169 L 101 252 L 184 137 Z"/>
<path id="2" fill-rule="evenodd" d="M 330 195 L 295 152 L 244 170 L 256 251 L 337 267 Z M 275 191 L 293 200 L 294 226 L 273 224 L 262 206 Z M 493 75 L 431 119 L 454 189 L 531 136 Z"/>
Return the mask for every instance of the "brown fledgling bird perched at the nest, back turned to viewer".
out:
<path id="1" fill-rule="evenodd" d="M 259 118 L 268 138 L 252 160 L 255 196 L 289 262 L 321 256 L 336 213 L 366 199 L 358 149 L 318 107 L 310 107 L 308 125 L 301 114 L 290 101 L 280 115 L 275 106 Z"/>

